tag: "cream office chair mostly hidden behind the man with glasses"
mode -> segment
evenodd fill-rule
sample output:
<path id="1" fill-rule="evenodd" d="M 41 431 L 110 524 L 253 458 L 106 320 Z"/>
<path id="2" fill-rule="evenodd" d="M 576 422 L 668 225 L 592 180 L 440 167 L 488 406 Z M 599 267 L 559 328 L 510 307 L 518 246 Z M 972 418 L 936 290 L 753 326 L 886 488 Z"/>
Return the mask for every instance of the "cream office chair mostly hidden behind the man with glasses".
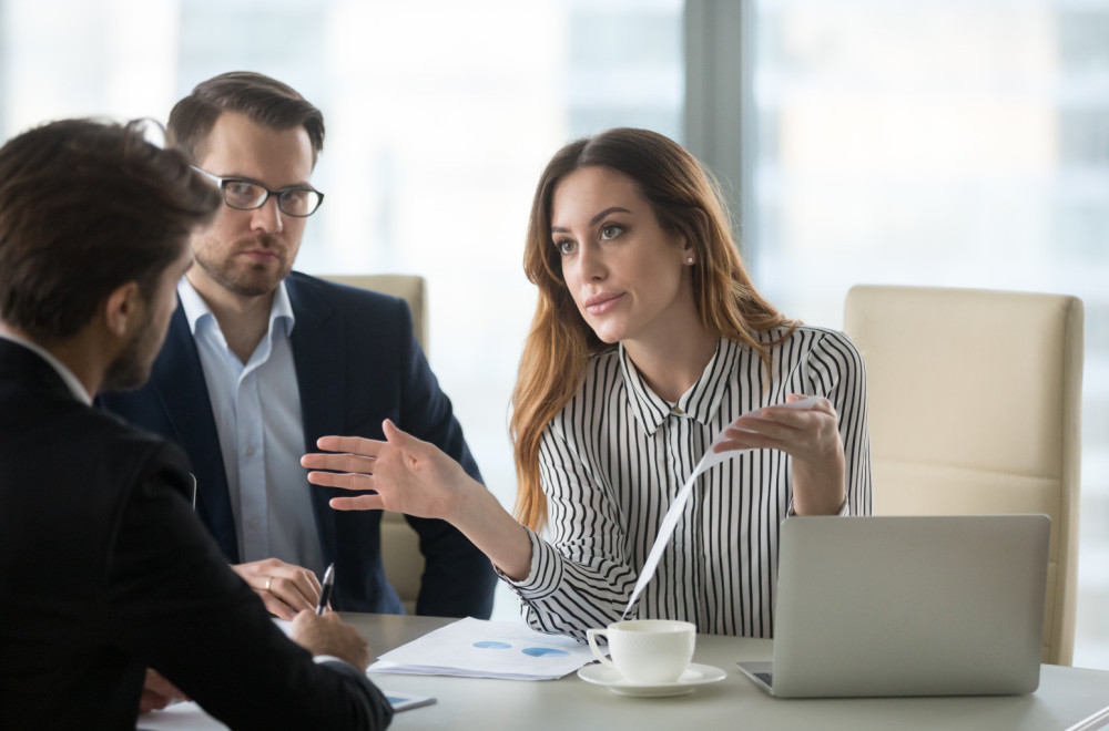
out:
<path id="1" fill-rule="evenodd" d="M 416 275 L 336 275 L 323 279 L 350 287 L 400 297 L 413 312 L 416 339 L 427 352 L 427 286 L 424 277 Z M 405 611 L 416 614 L 416 597 L 424 576 L 424 554 L 419 549 L 419 535 L 399 513 L 381 513 L 381 562 L 385 577 L 400 595 Z"/>

